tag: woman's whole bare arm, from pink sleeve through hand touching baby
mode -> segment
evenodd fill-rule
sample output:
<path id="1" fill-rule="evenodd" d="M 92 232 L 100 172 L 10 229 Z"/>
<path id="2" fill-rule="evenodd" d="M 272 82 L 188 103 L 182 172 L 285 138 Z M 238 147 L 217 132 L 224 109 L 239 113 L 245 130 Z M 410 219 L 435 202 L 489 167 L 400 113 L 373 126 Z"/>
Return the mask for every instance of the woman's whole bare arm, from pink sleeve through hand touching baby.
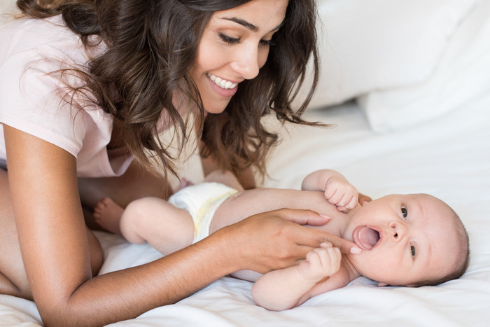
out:
<path id="1" fill-rule="evenodd" d="M 181 300 L 225 274 L 292 265 L 329 237 L 286 221 L 325 223 L 318 214 L 283 209 L 230 225 L 152 263 L 92 278 L 75 158 L 46 141 L 3 127 L 20 248 L 46 326 L 131 319 Z M 338 246 L 349 251 L 355 245 Z"/>

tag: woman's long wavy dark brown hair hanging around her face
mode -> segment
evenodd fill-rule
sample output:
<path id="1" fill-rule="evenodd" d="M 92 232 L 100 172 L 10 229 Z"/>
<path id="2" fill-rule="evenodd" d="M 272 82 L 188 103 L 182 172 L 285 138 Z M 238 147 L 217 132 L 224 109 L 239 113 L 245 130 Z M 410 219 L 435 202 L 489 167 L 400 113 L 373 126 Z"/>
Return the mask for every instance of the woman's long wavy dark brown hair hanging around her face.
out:
<path id="1" fill-rule="evenodd" d="M 223 113 L 204 119 L 200 94 L 189 74 L 204 27 L 215 11 L 248 1 L 18 0 L 17 6 L 34 18 L 62 14 L 66 26 L 86 47 L 91 46 L 90 36 L 102 38 L 106 51 L 90 61 L 88 71 L 78 72 L 86 82 L 85 91 L 93 95 L 97 106 L 111 113 L 125 144 L 141 162 L 150 164 L 151 151 L 165 174 L 176 174 L 168 144 L 155 135 L 165 114 L 176 127 L 181 148 L 188 141 L 193 126 L 172 103 L 174 92 L 180 92 L 199 109 L 202 155 L 213 155 L 218 165 L 235 173 L 253 165 L 263 174 L 267 152 L 278 136 L 262 125 L 262 116 L 274 113 L 283 123 L 320 125 L 301 118 L 318 79 L 316 4 L 315 0 L 289 1 L 260 74 L 240 83 Z M 293 110 L 308 60 L 314 75 L 311 91 Z"/>

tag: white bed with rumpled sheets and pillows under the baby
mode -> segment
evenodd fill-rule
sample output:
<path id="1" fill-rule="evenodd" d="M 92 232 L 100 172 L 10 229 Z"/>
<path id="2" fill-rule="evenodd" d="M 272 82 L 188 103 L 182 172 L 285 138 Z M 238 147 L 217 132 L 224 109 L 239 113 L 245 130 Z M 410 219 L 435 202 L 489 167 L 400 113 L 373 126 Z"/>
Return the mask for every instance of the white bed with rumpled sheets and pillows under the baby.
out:
<path id="1" fill-rule="evenodd" d="M 254 305 L 248 281 L 223 277 L 174 305 L 111 326 L 488 326 L 490 1 L 319 5 L 321 92 L 304 117 L 332 127 L 283 128 L 268 119 L 283 141 L 263 186 L 300 188 L 309 172 L 331 168 L 373 198 L 433 194 L 468 230 L 468 271 L 421 288 L 379 288 L 360 277 L 283 312 Z M 202 172 L 193 162 L 183 174 L 197 182 Z M 106 259 L 101 274 L 160 257 L 148 244 L 97 237 Z M 0 295 L 0 326 L 42 322 L 34 302 Z"/>

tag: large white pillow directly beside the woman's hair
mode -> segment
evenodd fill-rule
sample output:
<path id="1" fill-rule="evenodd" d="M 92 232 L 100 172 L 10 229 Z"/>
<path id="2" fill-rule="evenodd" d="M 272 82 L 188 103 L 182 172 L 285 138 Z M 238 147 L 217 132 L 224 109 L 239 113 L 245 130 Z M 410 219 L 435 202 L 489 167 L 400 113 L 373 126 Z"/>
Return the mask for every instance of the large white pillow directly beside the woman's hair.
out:
<path id="1" fill-rule="evenodd" d="M 310 107 L 426 81 L 475 1 L 319 0 L 321 76 Z"/>

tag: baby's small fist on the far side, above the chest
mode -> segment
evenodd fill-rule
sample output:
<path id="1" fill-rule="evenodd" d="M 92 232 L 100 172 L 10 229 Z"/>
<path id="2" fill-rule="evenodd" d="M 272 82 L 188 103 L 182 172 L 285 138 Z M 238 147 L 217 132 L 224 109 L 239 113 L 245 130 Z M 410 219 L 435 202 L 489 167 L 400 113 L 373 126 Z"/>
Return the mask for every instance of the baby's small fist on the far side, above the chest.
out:
<path id="1" fill-rule="evenodd" d="M 356 207 L 358 197 L 358 190 L 344 176 L 331 176 L 325 183 L 325 199 L 339 211 L 348 212 Z"/>

